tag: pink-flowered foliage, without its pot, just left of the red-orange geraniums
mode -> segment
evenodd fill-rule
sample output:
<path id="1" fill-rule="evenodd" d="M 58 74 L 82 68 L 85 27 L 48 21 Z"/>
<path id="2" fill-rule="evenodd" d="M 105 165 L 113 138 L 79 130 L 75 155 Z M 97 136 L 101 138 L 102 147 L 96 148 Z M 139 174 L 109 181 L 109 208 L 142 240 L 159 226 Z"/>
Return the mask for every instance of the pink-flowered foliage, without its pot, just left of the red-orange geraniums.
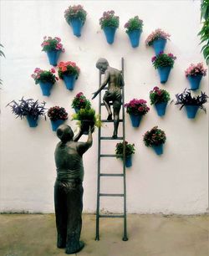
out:
<path id="1" fill-rule="evenodd" d="M 36 68 L 33 72 L 33 74 L 31 74 L 31 77 L 35 80 L 35 84 L 39 84 L 40 82 L 43 83 L 51 83 L 54 84 L 56 82 L 56 80 L 58 80 L 59 78 L 56 77 L 55 73 L 55 69 L 50 69 L 48 70 L 42 70 L 39 68 Z"/>

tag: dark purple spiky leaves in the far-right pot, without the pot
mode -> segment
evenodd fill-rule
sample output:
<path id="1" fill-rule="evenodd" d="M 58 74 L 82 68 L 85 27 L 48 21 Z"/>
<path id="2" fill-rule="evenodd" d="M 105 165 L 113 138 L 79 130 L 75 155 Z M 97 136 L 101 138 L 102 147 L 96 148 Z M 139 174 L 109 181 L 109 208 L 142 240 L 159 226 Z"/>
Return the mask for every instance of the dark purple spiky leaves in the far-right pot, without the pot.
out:
<path id="1" fill-rule="evenodd" d="M 197 105 L 201 110 L 206 112 L 206 108 L 203 106 L 207 102 L 208 96 L 205 92 L 201 91 L 201 95 L 191 95 L 191 90 L 185 89 L 181 94 L 176 94 L 176 103 L 175 105 L 181 105 L 180 110 L 185 105 Z"/>

